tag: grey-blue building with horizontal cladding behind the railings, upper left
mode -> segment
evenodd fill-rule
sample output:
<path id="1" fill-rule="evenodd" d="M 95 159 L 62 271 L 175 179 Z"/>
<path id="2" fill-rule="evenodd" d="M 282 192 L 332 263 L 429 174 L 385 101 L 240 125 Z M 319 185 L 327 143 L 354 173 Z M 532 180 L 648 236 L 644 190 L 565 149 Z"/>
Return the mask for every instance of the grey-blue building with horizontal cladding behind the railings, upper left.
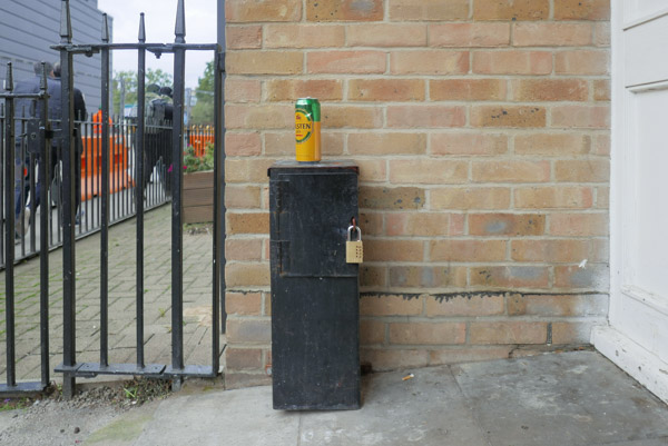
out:
<path id="1" fill-rule="evenodd" d="M 14 82 L 35 76 L 36 61 L 56 62 L 60 54 L 49 48 L 60 43 L 60 1 L 7 0 L 0 6 L 0 82 L 12 62 Z M 99 42 L 102 11 L 97 0 L 71 0 L 72 42 Z M 111 28 L 111 19 L 109 19 Z M 100 56 L 75 57 L 75 86 L 86 97 L 88 112 L 98 110 L 100 99 Z"/>

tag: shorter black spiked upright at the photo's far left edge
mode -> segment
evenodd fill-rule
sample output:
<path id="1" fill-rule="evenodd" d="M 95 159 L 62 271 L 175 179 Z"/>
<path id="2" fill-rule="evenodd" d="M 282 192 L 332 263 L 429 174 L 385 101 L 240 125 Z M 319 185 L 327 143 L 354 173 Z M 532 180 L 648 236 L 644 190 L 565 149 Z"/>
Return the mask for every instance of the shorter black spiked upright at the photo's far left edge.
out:
<path id="1" fill-rule="evenodd" d="M 11 62 L 7 63 L 4 89 L 13 91 L 13 73 Z M 4 308 L 7 330 L 7 386 L 17 385 L 14 350 L 14 103 L 13 98 L 4 99 L 7 115 L 4 117 Z"/>

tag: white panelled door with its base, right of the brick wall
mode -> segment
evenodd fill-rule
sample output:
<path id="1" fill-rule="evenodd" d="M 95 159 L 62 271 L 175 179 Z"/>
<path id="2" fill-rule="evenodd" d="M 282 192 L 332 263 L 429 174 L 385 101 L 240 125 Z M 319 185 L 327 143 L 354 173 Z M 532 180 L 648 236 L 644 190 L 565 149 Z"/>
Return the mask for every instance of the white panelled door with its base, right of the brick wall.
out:
<path id="1" fill-rule="evenodd" d="M 668 400 L 668 1 L 612 1 L 610 327 L 596 347 Z"/>

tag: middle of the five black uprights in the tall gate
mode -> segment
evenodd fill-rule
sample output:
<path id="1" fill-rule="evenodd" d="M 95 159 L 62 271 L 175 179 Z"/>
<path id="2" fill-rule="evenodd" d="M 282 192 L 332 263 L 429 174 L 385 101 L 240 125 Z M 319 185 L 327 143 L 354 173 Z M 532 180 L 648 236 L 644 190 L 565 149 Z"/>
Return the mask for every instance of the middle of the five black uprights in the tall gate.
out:
<path id="1" fill-rule="evenodd" d="M 139 43 L 146 43 L 144 12 L 139 16 Z M 146 129 L 146 48 L 139 48 L 137 71 L 137 141 L 135 145 L 135 202 L 137 204 L 137 367 L 144 368 L 144 132 Z"/>

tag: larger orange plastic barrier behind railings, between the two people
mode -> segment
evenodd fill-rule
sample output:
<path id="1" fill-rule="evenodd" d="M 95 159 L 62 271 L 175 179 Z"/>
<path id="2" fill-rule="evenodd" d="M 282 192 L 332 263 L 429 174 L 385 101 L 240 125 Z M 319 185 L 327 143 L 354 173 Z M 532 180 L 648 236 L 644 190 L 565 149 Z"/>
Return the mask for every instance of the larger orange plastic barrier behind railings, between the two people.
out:
<path id="1" fill-rule="evenodd" d="M 102 138 L 92 136 L 81 138 L 81 201 L 99 196 L 102 186 Z M 109 137 L 109 192 L 135 186 L 135 180 L 128 174 L 129 153 L 124 138 Z"/>

